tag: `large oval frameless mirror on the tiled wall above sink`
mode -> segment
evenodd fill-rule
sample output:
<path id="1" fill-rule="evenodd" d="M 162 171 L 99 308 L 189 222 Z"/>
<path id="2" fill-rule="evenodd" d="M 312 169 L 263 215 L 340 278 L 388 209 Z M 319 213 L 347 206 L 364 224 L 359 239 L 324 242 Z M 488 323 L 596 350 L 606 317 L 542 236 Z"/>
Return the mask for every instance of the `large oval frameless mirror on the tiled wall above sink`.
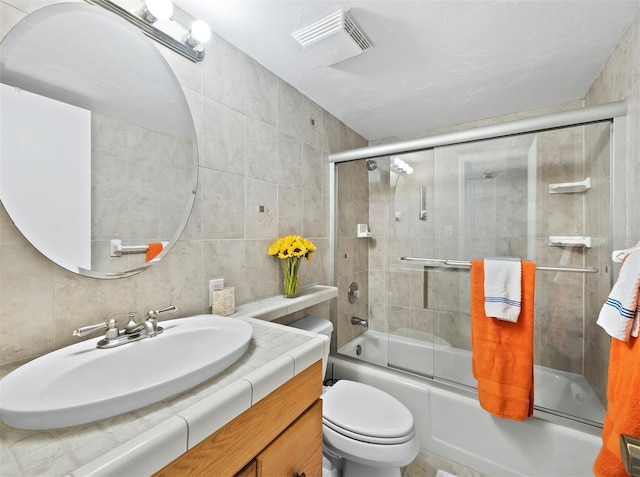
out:
<path id="1" fill-rule="evenodd" d="M 0 88 L 0 200 L 31 244 L 96 278 L 161 259 L 193 206 L 198 148 L 156 46 L 100 7 L 51 5 L 0 44 Z"/>

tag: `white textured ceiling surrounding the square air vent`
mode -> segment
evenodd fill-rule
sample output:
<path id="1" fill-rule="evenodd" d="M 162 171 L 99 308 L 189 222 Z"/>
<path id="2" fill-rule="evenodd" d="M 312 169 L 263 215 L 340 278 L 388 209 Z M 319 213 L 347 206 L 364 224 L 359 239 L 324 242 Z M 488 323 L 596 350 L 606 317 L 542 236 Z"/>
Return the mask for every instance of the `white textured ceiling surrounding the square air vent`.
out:
<path id="1" fill-rule="evenodd" d="M 369 140 L 582 99 L 640 0 L 175 0 Z M 344 9 L 373 49 L 291 36 Z"/>

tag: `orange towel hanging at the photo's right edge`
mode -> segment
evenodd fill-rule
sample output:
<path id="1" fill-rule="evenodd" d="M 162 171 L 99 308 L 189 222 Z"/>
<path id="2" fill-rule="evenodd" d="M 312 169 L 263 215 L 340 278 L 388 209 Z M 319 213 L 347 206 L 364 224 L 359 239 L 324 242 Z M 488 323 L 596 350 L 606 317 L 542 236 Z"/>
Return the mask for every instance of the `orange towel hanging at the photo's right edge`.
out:
<path id="1" fill-rule="evenodd" d="M 602 448 L 593 465 L 597 477 L 628 475 L 620 455 L 620 434 L 640 439 L 640 338 L 611 339 L 607 413 Z"/>

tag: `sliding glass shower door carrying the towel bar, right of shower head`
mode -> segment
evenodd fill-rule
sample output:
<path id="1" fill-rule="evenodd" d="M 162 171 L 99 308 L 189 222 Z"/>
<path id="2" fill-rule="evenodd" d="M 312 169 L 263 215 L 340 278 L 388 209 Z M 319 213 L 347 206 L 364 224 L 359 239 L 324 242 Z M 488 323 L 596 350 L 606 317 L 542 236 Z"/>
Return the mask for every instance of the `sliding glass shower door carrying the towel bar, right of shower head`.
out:
<path id="1" fill-rule="evenodd" d="M 605 268 L 608 123 L 438 147 L 398 159 L 414 172 L 392 173 L 390 181 L 389 366 L 472 389 L 469 269 L 450 265 L 518 257 L 539 266 Z M 426 207 L 421 187 L 429 191 Z M 422 209 L 426 221 L 419 218 Z M 608 280 L 602 271 L 536 274 L 538 409 L 602 422 L 606 367 L 599 360 L 608 350 L 601 348 L 594 324 Z M 421 355 L 412 351 L 420 346 Z"/>

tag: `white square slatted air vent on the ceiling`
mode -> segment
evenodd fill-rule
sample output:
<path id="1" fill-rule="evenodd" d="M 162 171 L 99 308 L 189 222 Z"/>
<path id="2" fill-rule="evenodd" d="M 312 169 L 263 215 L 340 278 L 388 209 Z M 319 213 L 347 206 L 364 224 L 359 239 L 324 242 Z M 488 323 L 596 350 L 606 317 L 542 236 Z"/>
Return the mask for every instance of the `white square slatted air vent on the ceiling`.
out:
<path id="1" fill-rule="evenodd" d="M 344 10 L 293 32 L 293 37 L 325 66 L 361 55 L 373 48 Z"/>

